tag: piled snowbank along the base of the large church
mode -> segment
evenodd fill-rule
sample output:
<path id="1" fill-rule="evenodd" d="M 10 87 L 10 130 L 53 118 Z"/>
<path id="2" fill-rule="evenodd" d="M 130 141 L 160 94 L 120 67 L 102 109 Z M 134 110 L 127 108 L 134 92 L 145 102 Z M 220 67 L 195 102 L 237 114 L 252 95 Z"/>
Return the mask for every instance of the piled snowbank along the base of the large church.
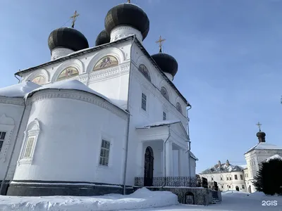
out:
<path id="1" fill-rule="evenodd" d="M 0 210 L 133 210 L 178 205 L 178 197 L 168 191 L 149 191 L 141 188 L 130 195 L 105 196 L 0 196 Z"/>

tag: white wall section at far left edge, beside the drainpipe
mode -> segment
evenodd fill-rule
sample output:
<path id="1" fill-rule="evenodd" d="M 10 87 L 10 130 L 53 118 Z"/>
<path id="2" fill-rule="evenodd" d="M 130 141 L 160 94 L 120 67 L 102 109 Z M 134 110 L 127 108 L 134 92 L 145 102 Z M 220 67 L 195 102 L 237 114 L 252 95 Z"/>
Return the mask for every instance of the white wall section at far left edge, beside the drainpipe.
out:
<path id="1" fill-rule="evenodd" d="M 18 105 L 15 105 L 18 104 Z M 23 115 L 23 99 L 22 98 L 3 98 L 0 97 L 0 131 L 6 132 L 5 141 L 0 153 L 0 180 L 4 179 L 8 168 L 8 160 L 11 158 L 13 145 L 16 141 L 16 135 L 20 127 L 20 118 Z M 28 113 L 23 117 L 22 125 L 26 124 Z M 13 153 L 10 169 L 6 179 L 10 180 L 16 168 L 16 160 L 20 151 L 21 139 L 23 133 L 19 132 L 19 139 L 16 142 L 16 147 Z"/>

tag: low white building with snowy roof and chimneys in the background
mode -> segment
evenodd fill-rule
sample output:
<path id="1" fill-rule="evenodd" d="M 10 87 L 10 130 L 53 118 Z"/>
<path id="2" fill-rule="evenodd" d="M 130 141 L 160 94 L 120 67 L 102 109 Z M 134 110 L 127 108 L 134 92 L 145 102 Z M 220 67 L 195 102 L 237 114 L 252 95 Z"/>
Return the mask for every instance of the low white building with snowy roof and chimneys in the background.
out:
<path id="1" fill-rule="evenodd" d="M 219 161 L 218 164 L 204 170 L 200 173 L 200 177 L 207 178 L 209 182 L 216 181 L 220 191 L 246 192 L 243 167 L 231 165 L 228 160 L 224 164 Z M 209 186 L 209 188 L 212 188 L 212 186 Z"/>

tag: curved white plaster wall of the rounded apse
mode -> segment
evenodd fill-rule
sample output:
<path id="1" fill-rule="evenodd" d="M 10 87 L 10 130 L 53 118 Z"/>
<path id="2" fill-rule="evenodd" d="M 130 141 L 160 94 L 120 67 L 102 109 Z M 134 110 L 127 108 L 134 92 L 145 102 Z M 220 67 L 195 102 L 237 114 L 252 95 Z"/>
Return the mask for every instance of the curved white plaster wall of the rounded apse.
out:
<path id="1" fill-rule="evenodd" d="M 35 93 L 28 124 L 37 118 L 41 131 L 32 164 L 18 164 L 13 180 L 122 184 L 126 120 L 92 103 L 71 98 L 47 98 L 58 93 L 97 98 L 80 91 Z M 37 97 L 42 100 L 37 101 Z M 99 98 L 97 101 L 103 103 Z M 111 141 L 109 167 L 99 166 L 104 137 Z"/>

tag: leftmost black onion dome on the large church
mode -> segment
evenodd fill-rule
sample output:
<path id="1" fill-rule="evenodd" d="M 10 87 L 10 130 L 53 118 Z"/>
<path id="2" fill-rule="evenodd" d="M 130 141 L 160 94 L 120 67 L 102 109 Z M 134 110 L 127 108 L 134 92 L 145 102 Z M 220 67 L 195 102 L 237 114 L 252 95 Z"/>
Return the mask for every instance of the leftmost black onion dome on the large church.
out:
<path id="1" fill-rule="evenodd" d="M 89 48 L 85 36 L 71 27 L 61 27 L 50 33 L 48 37 L 50 51 L 57 47 L 80 51 Z"/>

